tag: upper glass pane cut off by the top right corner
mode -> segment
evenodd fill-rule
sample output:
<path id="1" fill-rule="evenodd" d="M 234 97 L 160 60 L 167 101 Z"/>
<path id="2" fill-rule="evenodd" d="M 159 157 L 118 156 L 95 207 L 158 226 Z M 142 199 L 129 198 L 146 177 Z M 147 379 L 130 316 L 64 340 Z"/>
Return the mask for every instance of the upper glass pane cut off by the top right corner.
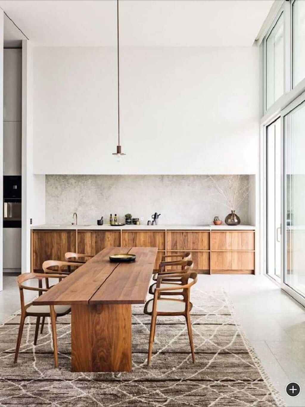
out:
<path id="1" fill-rule="evenodd" d="M 293 85 L 305 78 L 305 1 L 292 4 Z"/>

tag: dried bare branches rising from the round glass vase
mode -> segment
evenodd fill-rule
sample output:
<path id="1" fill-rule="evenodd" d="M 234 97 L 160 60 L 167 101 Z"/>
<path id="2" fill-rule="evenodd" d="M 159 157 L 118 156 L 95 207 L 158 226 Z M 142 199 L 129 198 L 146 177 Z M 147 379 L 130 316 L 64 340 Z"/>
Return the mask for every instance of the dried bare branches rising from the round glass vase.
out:
<path id="1" fill-rule="evenodd" d="M 209 179 L 211 179 L 212 185 L 217 191 L 216 195 L 222 198 L 216 200 L 212 197 L 212 199 L 229 208 L 229 210 L 238 210 L 250 193 L 247 175 L 223 175 L 221 184 L 224 184 L 224 186 L 220 185 L 220 182 L 212 175 L 209 175 Z"/>

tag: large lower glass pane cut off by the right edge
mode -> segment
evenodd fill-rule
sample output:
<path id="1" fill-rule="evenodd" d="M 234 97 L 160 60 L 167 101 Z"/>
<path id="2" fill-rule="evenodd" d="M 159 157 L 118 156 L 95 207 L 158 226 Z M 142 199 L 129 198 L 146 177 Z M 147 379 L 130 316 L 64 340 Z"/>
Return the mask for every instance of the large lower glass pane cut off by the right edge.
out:
<path id="1" fill-rule="evenodd" d="M 284 282 L 305 294 L 305 103 L 285 116 L 286 267 Z"/>

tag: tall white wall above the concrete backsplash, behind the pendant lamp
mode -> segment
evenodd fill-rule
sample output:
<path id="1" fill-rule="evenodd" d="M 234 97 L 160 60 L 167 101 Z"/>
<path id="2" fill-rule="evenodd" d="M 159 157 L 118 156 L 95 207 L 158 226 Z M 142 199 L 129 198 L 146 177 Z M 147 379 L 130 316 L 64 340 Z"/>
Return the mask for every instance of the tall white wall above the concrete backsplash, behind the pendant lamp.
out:
<path id="1" fill-rule="evenodd" d="M 255 174 L 259 49 L 34 48 L 36 174 Z"/>

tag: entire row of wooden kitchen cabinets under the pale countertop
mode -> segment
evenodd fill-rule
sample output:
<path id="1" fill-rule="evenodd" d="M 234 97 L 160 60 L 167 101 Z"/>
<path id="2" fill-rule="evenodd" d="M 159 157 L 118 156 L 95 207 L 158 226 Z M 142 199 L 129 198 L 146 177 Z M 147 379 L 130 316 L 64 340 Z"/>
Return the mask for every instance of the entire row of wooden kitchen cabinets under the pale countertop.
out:
<path id="1" fill-rule="evenodd" d="M 95 255 L 109 246 L 157 247 L 155 269 L 164 254 L 188 251 L 200 274 L 255 272 L 253 230 L 32 230 L 32 270 L 65 252 Z"/>

